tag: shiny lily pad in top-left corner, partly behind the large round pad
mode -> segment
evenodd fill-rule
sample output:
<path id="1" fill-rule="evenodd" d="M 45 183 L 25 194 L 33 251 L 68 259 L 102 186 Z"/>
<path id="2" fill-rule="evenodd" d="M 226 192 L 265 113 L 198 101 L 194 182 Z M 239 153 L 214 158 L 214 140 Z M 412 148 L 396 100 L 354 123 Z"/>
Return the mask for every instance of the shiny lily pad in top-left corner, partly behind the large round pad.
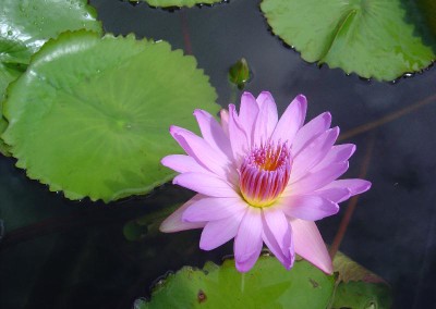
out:
<path id="1" fill-rule="evenodd" d="M 27 67 L 32 54 L 64 30 L 101 33 L 96 11 L 86 0 L 2 0 L 0 4 L 0 110 L 9 83 Z M 0 133 L 8 126 L 0 111 Z M 0 152 L 9 154 L 0 140 Z"/>

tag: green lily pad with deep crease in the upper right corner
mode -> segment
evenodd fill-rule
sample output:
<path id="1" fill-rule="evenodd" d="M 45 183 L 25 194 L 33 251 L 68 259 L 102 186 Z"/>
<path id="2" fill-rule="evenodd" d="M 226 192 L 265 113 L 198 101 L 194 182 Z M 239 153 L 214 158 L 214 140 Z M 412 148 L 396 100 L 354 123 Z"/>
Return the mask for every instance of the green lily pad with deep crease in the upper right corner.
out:
<path id="1" fill-rule="evenodd" d="M 392 81 L 436 59 L 435 37 L 416 24 L 423 18 L 415 4 L 403 2 L 263 0 L 261 8 L 272 32 L 304 60 Z"/>

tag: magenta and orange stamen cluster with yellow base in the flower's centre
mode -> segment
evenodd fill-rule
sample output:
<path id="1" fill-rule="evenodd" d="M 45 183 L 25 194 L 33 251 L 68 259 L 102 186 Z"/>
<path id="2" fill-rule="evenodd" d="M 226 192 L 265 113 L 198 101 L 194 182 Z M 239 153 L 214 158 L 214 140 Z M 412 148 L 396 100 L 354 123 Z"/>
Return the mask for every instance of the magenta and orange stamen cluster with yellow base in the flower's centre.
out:
<path id="1" fill-rule="evenodd" d="M 272 205 L 289 182 L 291 154 L 287 144 L 255 147 L 240 169 L 240 189 L 253 207 Z"/>

